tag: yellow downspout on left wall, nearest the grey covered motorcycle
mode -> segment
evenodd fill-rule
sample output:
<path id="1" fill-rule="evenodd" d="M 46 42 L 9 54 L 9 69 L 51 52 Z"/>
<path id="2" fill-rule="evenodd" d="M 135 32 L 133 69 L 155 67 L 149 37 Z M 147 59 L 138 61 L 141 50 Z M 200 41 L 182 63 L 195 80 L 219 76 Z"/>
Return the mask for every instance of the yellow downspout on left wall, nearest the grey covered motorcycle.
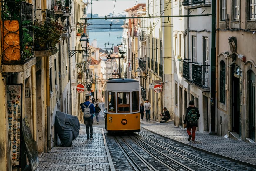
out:
<path id="1" fill-rule="evenodd" d="M 36 66 L 31 67 L 32 82 L 32 120 L 33 120 L 33 139 L 37 140 L 37 124 L 36 124 Z"/>

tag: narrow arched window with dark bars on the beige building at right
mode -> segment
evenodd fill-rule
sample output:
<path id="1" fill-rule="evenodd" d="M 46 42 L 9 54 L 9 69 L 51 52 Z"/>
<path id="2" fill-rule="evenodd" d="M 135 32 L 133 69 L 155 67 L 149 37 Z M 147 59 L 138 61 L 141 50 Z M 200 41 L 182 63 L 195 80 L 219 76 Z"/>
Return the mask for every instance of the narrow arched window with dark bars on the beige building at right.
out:
<path id="1" fill-rule="evenodd" d="M 225 84 L 226 84 L 226 65 L 223 61 L 221 61 L 220 62 L 220 102 L 223 104 L 226 104 L 225 103 L 226 101 Z"/>

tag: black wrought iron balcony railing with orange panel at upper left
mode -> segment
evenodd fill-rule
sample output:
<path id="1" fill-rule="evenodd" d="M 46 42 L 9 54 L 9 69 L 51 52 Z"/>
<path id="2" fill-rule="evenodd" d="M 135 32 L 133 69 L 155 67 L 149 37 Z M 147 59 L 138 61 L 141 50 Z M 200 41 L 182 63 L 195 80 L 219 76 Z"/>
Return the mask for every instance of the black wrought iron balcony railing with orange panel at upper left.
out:
<path id="1" fill-rule="evenodd" d="M 1 2 L 2 62 L 24 64 L 34 57 L 33 10 L 27 2 Z"/>

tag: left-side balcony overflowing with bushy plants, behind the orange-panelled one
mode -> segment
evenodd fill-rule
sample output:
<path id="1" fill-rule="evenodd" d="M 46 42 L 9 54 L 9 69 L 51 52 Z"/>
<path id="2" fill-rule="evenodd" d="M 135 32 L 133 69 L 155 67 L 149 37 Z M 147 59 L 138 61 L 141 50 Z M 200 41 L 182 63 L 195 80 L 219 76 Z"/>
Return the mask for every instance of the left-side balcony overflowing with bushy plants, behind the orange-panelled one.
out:
<path id="1" fill-rule="evenodd" d="M 60 37 L 62 29 L 61 31 L 57 29 L 59 24 L 54 17 L 54 11 L 34 9 L 35 57 L 51 56 L 57 53 L 56 43 L 54 42 L 59 41 L 59 38 L 56 39 L 56 37 L 57 35 Z M 47 38 L 42 39 L 41 37 Z"/>

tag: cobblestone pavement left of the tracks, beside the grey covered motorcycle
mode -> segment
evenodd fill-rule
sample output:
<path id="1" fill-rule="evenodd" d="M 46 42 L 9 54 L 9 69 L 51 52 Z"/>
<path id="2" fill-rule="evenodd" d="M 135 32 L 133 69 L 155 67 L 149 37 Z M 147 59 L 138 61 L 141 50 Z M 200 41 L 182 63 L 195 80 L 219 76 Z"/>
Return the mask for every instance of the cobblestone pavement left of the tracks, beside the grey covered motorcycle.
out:
<path id="1" fill-rule="evenodd" d="M 53 147 L 39 157 L 41 170 L 114 170 L 102 128 L 93 128 L 93 139 L 86 140 L 86 128 L 81 124 L 79 136 L 71 147 Z"/>

